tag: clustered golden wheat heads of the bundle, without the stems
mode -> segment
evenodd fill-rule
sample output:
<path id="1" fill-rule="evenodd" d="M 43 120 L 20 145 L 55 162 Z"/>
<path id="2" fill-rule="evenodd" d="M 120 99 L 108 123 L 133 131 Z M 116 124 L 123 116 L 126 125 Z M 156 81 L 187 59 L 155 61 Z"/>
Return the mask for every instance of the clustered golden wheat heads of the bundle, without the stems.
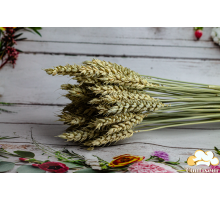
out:
<path id="1" fill-rule="evenodd" d="M 60 121 L 70 125 L 59 135 L 67 141 L 93 147 L 131 137 L 133 128 L 145 116 L 164 106 L 142 90 L 157 85 L 117 64 L 93 59 L 82 66 L 59 66 L 45 71 L 73 76 L 79 83 L 61 85 L 72 101 L 58 115 Z"/>

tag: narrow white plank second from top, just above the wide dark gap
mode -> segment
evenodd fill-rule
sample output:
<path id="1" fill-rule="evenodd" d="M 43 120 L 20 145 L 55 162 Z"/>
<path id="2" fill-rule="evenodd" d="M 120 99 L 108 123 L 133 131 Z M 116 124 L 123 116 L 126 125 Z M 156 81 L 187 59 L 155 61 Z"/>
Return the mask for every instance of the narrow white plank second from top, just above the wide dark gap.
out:
<path id="1" fill-rule="evenodd" d="M 112 57 L 154 57 L 182 59 L 220 59 L 220 48 L 86 44 L 59 42 L 20 42 L 19 49 L 31 53 L 55 53 L 67 55 L 91 55 Z"/>

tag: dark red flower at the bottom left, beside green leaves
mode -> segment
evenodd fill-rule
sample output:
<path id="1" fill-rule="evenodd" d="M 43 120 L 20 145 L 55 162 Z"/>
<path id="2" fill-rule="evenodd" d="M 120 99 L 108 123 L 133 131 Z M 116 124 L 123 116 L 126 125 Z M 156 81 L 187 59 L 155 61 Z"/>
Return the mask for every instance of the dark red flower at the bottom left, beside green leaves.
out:
<path id="1" fill-rule="evenodd" d="M 55 172 L 55 173 L 64 173 L 69 170 L 69 167 L 59 162 L 46 162 L 39 165 L 38 167 L 44 171 Z"/>

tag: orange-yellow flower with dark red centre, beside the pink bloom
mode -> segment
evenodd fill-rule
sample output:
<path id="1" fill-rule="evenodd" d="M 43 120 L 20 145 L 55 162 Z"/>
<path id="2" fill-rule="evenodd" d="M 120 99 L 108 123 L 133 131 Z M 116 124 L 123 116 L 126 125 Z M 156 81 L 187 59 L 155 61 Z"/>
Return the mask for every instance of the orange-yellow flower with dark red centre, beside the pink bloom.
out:
<path id="1" fill-rule="evenodd" d="M 130 163 L 141 161 L 144 158 L 145 158 L 144 156 L 133 156 L 131 154 L 124 154 L 124 155 L 114 157 L 113 158 L 114 160 L 109 163 L 109 166 L 110 167 L 123 167 Z"/>

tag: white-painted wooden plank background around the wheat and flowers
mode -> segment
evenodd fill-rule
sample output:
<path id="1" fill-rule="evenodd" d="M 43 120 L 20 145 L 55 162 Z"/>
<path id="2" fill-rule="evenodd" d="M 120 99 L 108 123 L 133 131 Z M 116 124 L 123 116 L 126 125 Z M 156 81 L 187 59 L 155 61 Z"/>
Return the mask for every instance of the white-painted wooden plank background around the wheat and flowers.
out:
<path id="1" fill-rule="evenodd" d="M 0 71 L 0 88 L 4 89 L 0 102 L 16 104 L 2 107 L 16 113 L 0 114 L 0 136 L 20 136 L 0 141 L 7 150 L 32 150 L 38 159 L 46 158 L 31 143 L 31 128 L 34 138 L 42 144 L 58 149 L 68 145 L 79 154 L 93 154 L 107 161 L 127 153 L 149 157 L 161 150 L 169 153 L 171 160 L 180 158 L 184 162 L 197 149 L 220 147 L 220 124 L 136 133 L 114 146 L 92 152 L 66 143 L 54 137 L 66 128 L 55 114 L 68 103 L 58 88 L 73 81 L 48 76 L 42 70 L 97 57 L 140 74 L 220 85 L 220 48 L 211 40 L 211 28 L 204 28 L 199 41 L 194 38 L 193 28 L 43 28 L 41 34 L 25 33 L 28 40 L 17 45 L 23 53 L 15 69 L 8 65 Z"/>

